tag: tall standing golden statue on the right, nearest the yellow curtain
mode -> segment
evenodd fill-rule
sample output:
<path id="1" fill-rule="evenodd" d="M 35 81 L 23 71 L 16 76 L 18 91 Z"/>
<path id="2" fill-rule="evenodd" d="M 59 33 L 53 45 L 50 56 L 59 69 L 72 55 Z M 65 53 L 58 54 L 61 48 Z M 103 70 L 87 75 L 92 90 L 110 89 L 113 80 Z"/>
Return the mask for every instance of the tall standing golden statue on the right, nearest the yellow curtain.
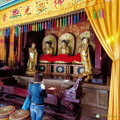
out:
<path id="1" fill-rule="evenodd" d="M 85 68 L 84 72 L 79 74 L 79 77 L 81 76 L 87 76 L 85 78 L 85 82 L 88 82 L 88 80 L 92 77 L 92 66 L 91 66 L 91 60 L 90 60 L 90 53 L 89 53 L 89 43 L 88 38 L 83 37 L 82 43 L 79 46 L 78 52 L 80 52 L 82 64 Z"/>

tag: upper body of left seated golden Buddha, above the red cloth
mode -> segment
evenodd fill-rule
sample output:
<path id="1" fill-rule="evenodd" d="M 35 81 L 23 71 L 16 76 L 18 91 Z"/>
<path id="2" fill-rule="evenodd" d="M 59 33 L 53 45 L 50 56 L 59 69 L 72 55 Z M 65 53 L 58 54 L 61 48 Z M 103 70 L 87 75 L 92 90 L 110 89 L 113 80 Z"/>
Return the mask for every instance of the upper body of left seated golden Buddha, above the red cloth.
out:
<path id="1" fill-rule="evenodd" d="M 43 50 L 43 54 L 44 55 L 46 55 L 46 54 L 51 54 L 51 55 L 53 55 L 54 54 L 54 48 L 53 47 L 51 47 L 51 42 L 50 41 L 46 41 L 45 42 L 45 45 L 46 45 L 46 47 L 44 48 L 44 50 Z"/>

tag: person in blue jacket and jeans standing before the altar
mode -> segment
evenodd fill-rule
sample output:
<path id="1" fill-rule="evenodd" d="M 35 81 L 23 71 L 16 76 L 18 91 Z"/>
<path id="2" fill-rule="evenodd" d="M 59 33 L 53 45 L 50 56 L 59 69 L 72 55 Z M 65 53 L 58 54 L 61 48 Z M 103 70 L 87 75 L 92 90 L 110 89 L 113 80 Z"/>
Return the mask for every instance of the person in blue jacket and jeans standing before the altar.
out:
<path id="1" fill-rule="evenodd" d="M 44 113 L 44 98 L 47 97 L 45 86 L 42 84 L 43 74 L 36 73 L 34 82 L 29 84 L 29 94 L 31 95 L 30 115 L 31 120 L 42 120 Z"/>

